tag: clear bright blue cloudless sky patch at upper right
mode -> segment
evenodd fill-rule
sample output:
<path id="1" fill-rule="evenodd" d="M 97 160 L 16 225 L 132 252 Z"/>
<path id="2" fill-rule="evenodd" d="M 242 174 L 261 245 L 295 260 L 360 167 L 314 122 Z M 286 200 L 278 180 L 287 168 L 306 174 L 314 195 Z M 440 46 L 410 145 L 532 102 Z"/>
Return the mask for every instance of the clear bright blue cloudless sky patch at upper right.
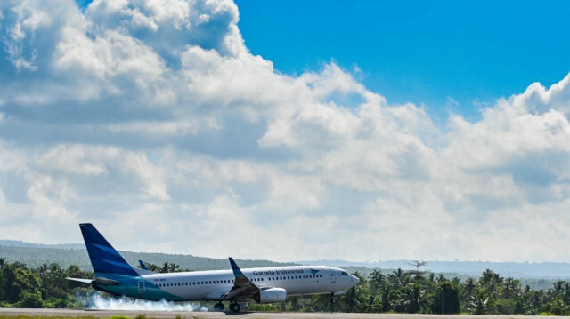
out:
<path id="1" fill-rule="evenodd" d="M 238 0 L 249 50 L 286 74 L 336 61 L 391 103 L 478 116 L 570 70 L 566 1 Z M 459 106 L 448 103 L 448 98 Z"/>

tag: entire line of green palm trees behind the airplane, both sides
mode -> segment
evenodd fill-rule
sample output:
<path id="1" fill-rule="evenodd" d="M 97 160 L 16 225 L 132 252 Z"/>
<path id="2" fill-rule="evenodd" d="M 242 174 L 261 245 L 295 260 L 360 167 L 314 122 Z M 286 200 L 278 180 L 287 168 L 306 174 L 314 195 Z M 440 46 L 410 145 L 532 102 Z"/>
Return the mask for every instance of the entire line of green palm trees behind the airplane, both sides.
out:
<path id="1" fill-rule="evenodd" d="M 375 269 L 368 277 L 354 273 L 360 283 L 330 302 L 330 295 L 290 297 L 281 304 L 248 305 L 249 311 L 360 312 L 476 315 L 570 315 L 570 283 L 558 281 L 545 290 L 533 290 L 518 279 L 502 277 L 486 269 L 478 278 L 447 278 L 422 270 L 415 261 L 412 270 L 392 272 Z M 147 264 L 155 272 L 178 272 L 175 263 Z M 76 299 L 85 285 L 66 277 L 93 278 L 92 272 L 76 265 L 57 263 L 29 268 L 21 262 L 0 258 L 0 307 L 84 307 Z M 211 305 L 210 305 L 211 306 Z M 206 304 L 208 307 L 208 303 Z"/>

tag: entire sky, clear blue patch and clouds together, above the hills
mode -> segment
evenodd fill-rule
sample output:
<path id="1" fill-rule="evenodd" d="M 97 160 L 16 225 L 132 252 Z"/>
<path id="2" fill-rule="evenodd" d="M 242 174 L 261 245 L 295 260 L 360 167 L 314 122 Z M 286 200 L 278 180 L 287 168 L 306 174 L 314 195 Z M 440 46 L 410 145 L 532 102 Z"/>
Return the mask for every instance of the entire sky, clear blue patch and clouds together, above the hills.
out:
<path id="1" fill-rule="evenodd" d="M 570 261 L 570 4 L 347 4 L 0 2 L 0 234 Z"/>

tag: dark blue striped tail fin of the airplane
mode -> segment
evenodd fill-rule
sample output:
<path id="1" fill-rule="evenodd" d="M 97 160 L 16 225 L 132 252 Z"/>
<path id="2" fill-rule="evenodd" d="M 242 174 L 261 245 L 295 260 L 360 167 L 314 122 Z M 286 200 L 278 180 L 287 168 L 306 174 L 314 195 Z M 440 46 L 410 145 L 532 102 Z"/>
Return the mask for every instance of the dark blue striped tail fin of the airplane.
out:
<path id="1" fill-rule="evenodd" d="M 79 224 L 95 275 L 138 275 L 91 224 Z"/>

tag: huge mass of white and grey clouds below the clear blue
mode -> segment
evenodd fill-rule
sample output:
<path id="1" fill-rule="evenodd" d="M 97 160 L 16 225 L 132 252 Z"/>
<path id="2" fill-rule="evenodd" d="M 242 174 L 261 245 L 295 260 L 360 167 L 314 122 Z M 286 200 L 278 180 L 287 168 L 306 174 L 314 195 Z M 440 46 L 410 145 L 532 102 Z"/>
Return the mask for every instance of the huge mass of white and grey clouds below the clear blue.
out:
<path id="1" fill-rule="evenodd" d="M 570 75 L 441 128 L 334 62 L 276 72 L 231 1 L 56 3 L 0 4 L 6 237 L 92 221 L 218 258 L 570 260 Z"/>

